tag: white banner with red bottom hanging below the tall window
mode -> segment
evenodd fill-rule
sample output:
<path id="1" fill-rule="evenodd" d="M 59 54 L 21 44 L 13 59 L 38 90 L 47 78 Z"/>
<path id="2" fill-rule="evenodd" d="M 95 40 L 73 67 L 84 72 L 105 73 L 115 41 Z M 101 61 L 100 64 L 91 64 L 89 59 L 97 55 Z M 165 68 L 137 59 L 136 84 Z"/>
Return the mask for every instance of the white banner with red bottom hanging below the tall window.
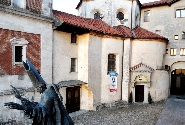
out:
<path id="1" fill-rule="evenodd" d="M 117 92 L 117 73 L 109 71 L 110 75 L 110 95 L 116 95 Z"/>

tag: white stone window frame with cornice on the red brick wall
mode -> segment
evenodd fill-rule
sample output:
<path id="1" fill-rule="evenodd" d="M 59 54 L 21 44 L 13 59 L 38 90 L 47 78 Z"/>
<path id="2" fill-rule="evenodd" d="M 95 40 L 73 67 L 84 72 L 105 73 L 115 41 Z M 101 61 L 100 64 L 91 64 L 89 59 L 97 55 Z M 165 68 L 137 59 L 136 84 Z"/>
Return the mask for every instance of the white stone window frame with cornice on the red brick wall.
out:
<path id="1" fill-rule="evenodd" d="M 22 64 L 22 61 L 20 62 L 16 62 L 16 52 L 15 52 L 15 48 L 16 46 L 22 46 L 22 60 L 23 61 L 26 61 L 26 48 L 27 48 L 27 45 L 28 45 L 28 41 L 25 40 L 24 38 L 13 38 L 10 40 L 10 43 L 12 45 L 12 58 L 13 58 L 13 64 L 16 65 L 16 64 Z"/>

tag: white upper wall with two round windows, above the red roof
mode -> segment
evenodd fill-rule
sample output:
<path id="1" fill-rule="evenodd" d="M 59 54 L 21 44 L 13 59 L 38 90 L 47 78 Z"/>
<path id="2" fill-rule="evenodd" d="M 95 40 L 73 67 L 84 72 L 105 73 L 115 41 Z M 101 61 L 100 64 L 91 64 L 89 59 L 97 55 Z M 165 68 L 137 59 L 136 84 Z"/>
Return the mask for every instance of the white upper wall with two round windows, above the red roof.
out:
<path id="1" fill-rule="evenodd" d="M 85 18 L 94 18 L 94 13 L 98 11 L 104 15 L 102 20 L 111 26 L 125 25 L 127 27 L 131 27 L 131 6 L 132 1 L 130 0 L 84 1 L 78 10 L 78 15 Z M 139 11 L 136 6 L 136 1 L 133 1 L 133 17 L 135 17 L 135 13 L 137 13 L 136 11 Z M 128 19 L 128 22 L 121 24 L 116 18 L 119 10 L 124 12 L 124 18 Z M 135 19 L 133 18 L 133 27 L 135 27 L 134 24 Z"/>

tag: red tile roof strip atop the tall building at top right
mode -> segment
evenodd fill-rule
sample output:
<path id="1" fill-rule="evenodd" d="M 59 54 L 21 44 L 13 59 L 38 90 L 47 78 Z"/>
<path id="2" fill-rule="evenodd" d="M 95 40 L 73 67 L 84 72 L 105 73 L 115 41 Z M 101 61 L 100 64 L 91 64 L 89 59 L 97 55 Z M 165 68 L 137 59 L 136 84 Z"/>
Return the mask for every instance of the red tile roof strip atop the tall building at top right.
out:
<path id="1" fill-rule="evenodd" d="M 149 3 L 144 3 L 142 4 L 142 8 L 145 7 L 153 7 L 153 6 L 162 6 L 162 5 L 168 5 L 170 6 L 171 4 L 177 2 L 179 0 L 160 0 L 160 1 L 154 1 L 154 2 L 149 2 Z"/>

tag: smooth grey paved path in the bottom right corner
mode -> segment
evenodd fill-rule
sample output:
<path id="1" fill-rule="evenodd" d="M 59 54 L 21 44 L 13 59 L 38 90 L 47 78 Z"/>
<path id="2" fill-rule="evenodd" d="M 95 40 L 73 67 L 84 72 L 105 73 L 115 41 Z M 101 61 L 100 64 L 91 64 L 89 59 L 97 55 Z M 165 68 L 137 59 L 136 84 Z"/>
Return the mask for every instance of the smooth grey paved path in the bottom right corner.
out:
<path id="1" fill-rule="evenodd" d="M 156 125 L 185 125 L 185 96 L 171 96 L 166 101 Z"/>

